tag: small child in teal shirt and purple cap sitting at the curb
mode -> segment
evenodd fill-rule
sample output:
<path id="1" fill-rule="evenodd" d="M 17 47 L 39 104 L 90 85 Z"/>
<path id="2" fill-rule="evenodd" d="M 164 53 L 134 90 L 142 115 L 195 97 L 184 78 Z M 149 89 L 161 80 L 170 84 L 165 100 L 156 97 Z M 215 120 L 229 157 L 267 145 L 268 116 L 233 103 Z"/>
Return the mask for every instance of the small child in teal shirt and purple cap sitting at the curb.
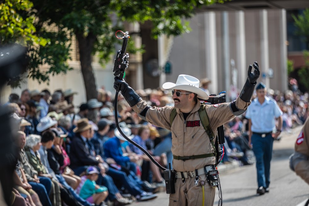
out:
<path id="1" fill-rule="evenodd" d="M 101 205 L 108 195 L 107 188 L 99 186 L 95 181 L 99 177 L 99 171 L 94 166 L 89 166 L 86 170 L 87 180 L 79 192 L 79 196 L 90 203 Z"/>

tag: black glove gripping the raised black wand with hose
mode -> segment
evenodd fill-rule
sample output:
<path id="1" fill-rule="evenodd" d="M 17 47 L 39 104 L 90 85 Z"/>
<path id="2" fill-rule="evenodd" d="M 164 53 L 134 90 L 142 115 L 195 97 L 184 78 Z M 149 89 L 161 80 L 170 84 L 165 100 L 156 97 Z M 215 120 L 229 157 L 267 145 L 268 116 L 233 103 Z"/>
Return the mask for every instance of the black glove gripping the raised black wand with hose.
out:
<path id="1" fill-rule="evenodd" d="M 118 87 L 120 88 L 122 96 L 129 103 L 130 107 L 133 107 L 141 99 L 138 94 L 136 94 L 136 92 L 127 84 L 127 82 L 115 77 L 114 89 L 117 90 Z"/>

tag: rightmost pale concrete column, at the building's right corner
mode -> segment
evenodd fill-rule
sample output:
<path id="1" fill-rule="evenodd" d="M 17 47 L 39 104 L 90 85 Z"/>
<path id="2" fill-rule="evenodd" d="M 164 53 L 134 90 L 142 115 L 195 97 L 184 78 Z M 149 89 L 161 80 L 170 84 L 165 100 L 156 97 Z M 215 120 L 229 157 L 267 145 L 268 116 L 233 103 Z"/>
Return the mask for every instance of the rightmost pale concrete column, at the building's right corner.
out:
<path id="1" fill-rule="evenodd" d="M 286 10 L 281 9 L 279 17 L 279 40 L 280 40 L 280 80 L 281 91 L 286 91 L 288 89 L 288 72 L 287 72 L 287 46 L 286 46 Z"/>

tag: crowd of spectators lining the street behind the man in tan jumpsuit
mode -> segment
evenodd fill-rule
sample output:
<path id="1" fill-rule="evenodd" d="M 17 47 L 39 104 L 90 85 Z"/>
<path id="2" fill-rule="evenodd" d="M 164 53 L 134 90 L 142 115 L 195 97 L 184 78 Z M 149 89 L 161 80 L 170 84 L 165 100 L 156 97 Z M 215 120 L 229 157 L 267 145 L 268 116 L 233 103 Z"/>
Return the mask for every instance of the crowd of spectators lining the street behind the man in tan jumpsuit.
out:
<path id="1" fill-rule="evenodd" d="M 137 93 L 151 106 L 173 105 L 169 91 Z M 20 153 L 13 205 L 126 205 L 155 199 L 155 193 L 165 187 L 162 171 L 116 128 L 111 92 L 99 89 L 97 99 L 77 107 L 74 95 L 78 94 L 70 89 L 53 94 L 45 89 L 9 96 L 5 106 L 17 123 L 15 145 Z M 284 93 L 268 90 L 268 96 L 283 111 L 283 130 L 287 132 L 309 115 L 308 93 L 301 93 L 295 85 Z M 169 167 L 173 158 L 170 131 L 142 120 L 121 94 L 117 113 L 126 136 Z M 242 165 L 252 164 L 244 115 L 224 128 L 222 162 L 237 159 Z"/>

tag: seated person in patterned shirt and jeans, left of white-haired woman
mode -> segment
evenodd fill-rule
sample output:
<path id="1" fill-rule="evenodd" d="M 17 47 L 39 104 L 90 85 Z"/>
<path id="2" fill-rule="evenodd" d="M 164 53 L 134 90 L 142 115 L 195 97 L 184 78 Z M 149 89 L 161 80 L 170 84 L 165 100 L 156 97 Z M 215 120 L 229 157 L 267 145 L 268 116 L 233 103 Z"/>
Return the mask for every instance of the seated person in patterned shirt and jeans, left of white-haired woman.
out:
<path id="1" fill-rule="evenodd" d="M 29 163 L 28 157 L 23 150 L 26 144 L 26 135 L 24 132 L 18 132 L 19 137 L 19 155 L 20 155 L 20 166 L 25 174 L 27 182 L 32 186 L 32 189 L 39 195 L 40 201 L 43 206 L 51 206 L 52 203 L 49 199 L 49 192 L 52 186 L 52 182 L 47 177 L 38 177 L 37 171 Z M 26 181 L 25 181 L 26 182 Z"/>

